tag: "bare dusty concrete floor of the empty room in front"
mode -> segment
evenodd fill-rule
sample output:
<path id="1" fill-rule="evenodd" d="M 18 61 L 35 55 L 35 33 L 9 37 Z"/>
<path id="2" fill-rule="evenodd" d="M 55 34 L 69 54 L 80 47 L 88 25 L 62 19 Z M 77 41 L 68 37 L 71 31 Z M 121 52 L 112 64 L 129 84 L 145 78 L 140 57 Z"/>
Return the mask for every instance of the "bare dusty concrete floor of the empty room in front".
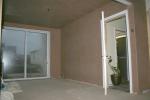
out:
<path id="1" fill-rule="evenodd" d="M 104 96 L 101 87 L 67 80 L 18 81 L 23 90 L 15 100 L 150 100 L 150 93 L 130 95 L 119 90 L 109 90 Z"/>

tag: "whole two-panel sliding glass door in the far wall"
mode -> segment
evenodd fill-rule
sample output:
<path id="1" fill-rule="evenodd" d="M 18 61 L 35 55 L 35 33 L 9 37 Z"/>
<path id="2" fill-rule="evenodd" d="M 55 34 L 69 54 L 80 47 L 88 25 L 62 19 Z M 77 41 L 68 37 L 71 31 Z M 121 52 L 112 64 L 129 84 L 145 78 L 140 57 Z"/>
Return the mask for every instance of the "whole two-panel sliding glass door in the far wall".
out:
<path id="1" fill-rule="evenodd" d="M 49 76 L 46 32 L 9 28 L 2 34 L 4 79 Z"/>

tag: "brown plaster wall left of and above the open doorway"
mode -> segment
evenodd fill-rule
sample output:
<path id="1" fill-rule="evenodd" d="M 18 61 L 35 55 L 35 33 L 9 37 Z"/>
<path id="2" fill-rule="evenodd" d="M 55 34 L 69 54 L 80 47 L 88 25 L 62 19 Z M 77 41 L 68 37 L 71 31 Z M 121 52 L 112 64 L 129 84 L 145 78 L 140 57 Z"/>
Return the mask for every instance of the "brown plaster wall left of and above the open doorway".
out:
<path id="1" fill-rule="evenodd" d="M 102 85 L 101 11 L 105 17 L 125 9 L 111 2 L 62 28 L 64 78 Z"/>

